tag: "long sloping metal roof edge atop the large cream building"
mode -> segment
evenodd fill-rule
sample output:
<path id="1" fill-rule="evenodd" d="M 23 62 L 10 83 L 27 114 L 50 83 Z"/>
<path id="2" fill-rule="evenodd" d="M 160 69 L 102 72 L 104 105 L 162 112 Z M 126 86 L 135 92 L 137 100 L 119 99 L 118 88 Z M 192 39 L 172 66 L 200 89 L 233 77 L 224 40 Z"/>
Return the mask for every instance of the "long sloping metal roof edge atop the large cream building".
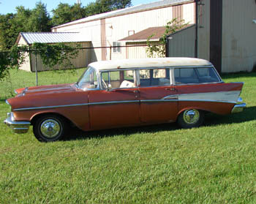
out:
<path id="1" fill-rule="evenodd" d="M 105 13 L 101 13 L 98 15 L 91 15 L 89 17 L 86 18 L 82 18 L 80 20 L 75 20 L 72 21 L 70 23 L 65 23 L 62 24 L 60 26 L 56 26 L 53 27 L 53 29 L 57 29 L 59 27 L 62 26 L 70 26 L 72 24 L 77 24 L 77 23 L 85 23 L 88 21 L 92 21 L 92 20 L 99 20 L 99 19 L 103 19 L 103 18 L 111 18 L 113 16 L 117 16 L 117 15 L 126 15 L 132 12 L 141 12 L 144 10 L 154 10 L 157 8 L 161 8 L 161 7 L 168 7 L 168 6 L 172 6 L 172 5 L 176 5 L 176 4 L 187 4 L 187 3 L 191 3 L 194 2 L 194 0 L 162 0 L 162 1 L 155 1 L 152 3 L 148 3 L 148 4 L 140 4 L 134 7 L 128 7 L 122 10 L 115 10 L 112 12 L 105 12 Z"/>

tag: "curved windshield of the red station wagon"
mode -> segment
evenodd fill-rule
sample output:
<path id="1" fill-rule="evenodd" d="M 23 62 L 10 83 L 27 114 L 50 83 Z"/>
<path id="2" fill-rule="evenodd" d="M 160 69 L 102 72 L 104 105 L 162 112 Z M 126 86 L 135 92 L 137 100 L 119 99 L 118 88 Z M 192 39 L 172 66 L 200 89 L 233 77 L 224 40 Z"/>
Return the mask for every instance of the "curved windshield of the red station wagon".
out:
<path id="1" fill-rule="evenodd" d="M 78 88 L 97 88 L 98 79 L 94 68 L 89 67 L 78 80 Z"/>

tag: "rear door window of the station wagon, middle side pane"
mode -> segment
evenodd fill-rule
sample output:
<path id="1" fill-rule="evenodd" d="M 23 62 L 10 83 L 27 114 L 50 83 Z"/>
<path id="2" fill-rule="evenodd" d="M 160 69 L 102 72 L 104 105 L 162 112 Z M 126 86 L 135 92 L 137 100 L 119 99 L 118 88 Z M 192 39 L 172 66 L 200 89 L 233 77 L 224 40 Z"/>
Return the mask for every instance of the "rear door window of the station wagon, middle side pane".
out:
<path id="1" fill-rule="evenodd" d="M 140 69 L 140 87 L 170 86 L 170 69 Z"/>

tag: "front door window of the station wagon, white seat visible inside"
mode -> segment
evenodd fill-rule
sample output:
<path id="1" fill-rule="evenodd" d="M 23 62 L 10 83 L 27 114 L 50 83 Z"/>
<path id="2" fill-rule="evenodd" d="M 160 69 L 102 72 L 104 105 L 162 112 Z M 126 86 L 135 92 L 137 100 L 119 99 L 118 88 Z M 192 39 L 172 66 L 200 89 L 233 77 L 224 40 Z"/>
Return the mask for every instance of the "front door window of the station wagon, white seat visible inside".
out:
<path id="1" fill-rule="evenodd" d="M 135 70 L 102 72 L 102 88 L 135 88 Z"/>

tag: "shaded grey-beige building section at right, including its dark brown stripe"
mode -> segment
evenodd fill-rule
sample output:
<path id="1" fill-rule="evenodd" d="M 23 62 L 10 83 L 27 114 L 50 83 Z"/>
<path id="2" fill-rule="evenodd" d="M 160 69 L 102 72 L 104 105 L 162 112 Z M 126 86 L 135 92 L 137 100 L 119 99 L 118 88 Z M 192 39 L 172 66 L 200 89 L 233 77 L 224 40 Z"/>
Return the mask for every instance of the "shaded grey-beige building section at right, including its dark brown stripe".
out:
<path id="1" fill-rule="evenodd" d="M 255 0 L 197 0 L 197 56 L 219 72 L 251 72 L 255 37 Z"/>

